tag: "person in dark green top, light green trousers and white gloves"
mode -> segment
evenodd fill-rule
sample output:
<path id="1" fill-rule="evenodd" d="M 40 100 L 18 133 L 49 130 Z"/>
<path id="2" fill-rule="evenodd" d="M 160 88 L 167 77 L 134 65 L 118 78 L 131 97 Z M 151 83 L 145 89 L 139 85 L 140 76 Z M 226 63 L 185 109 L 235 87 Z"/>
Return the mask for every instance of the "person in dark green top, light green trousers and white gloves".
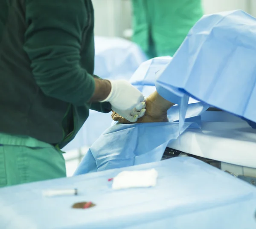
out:
<path id="1" fill-rule="evenodd" d="M 93 21 L 91 0 L 0 0 L 0 187 L 65 177 L 90 109 L 145 113 L 130 83 L 93 75 Z"/>

